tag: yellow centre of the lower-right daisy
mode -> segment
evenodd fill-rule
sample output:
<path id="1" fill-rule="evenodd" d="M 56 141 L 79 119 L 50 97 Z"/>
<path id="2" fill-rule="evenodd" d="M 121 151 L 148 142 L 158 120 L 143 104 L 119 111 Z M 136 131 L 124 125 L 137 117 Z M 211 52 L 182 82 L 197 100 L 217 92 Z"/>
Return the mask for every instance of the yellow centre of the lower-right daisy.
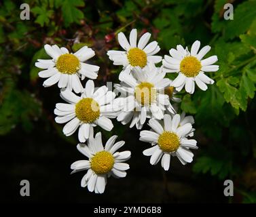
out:
<path id="1" fill-rule="evenodd" d="M 179 137 L 175 133 L 164 131 L 158 137 L 158 145 L 162 151 L 176 151 L 179 148 Z"/>

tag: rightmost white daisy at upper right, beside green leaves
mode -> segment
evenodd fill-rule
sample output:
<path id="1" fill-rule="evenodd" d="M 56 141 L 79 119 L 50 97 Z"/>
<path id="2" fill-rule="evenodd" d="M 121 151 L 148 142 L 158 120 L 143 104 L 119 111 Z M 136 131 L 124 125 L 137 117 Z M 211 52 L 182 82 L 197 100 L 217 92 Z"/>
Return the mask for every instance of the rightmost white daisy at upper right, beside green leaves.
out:
<path id="1" fill-rule="evenodd" d="M 213 79 L 210 79 L 204 72 L 215 72 L 219 70 L 219 66 L 213 65 L 217 62 L 217 56 L 210 56 L 202 60 L 211 47 L 206 45 L 202 47 L 200 52 L 200 41 L 195 41 L 191 47 L 191 52 L 177 45 L 177 50 L 171 49 L 170 56 L 165 55 L 163 64 L 166 73 L 179 73 L 178 77 L 172 82 L 172 86 L 180 92 L 185 86 L 185 91 L 193 94 L 195 90 L 195 81 L 201 90 L 207 90 L 206 84 L 213 84 Z"/>

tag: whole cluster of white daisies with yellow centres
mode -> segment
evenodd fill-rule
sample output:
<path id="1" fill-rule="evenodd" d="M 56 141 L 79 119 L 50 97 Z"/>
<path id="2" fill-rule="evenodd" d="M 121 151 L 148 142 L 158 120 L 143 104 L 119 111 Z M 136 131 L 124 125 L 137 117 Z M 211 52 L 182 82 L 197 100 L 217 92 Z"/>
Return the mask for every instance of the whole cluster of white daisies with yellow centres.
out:
<path id="1" fill-rule="evenodd" d="M 130 151 L 117 152 L 124 141 L 115 142 L 117 136 L 112 136 L 103 146 L 101 133 L 94 137 L 94 127 L 100 126 L 111 131 L 116 118 L 122 124 L 130 123 L 130 127 L 141 130 L 147 119 L 151 130 L 141 131 L 139 140 L 151 143 L 151 148 L 143 151 L 151 156 L 150 163 L 155 165 L 161 159 L 164 170 L 169 170 L 170 156 L 177 156 L 183 165 L 193 160 L 190 149 L 198 149 L 194 136 L 194 118 L 177 114 L 172 106 L 181 102 L 175 97 L 183 87 L 189 94 L 195 90 L 195 82 L 201 90 L 206 90 L 206 84 L 214 81 L 204 72 L 217 71 L 219 66 L 217 56 L 202 60 L 211 49 L 208 45 L 199 51 L 200 41 L 195 41 L 191 52 L 181 45 L 177 50 L 171 49 L 170 56 L 156 56 L 160 51 L 157 41 L 149 42 L 150 33 L 145 33 L 137 43 L 137 31 L 132 29 L 129 42 L 124 33 L 118 34 L 118 41 L 124 51 L 110 50 L 107 52 L 113 64 L 122 65 L 119 75 L 120 84 L 115 84 L 112 92 L 107 86 L 94 87 L 98 76 L 98 66 L 86 63 L 95 53 L 87 46 L 74 54 L 65 47 L 45 45 L 45 52 L 50 60 L 37 60 L 35 66 L 43 68 L 39 77 L 48 78 L 43 82 L 44 87 L 58 83 L 60 97 L 66 103 L 57 103 L 54 114 L 57 123 L 65 123 L 63 133 L 66 136 L 74 134 L 78 128 L 77 149 L 88 157 L 88 160 L 75 161 L 71 165 L 74 172 L 87 170 L 81 180 L 81 186 L 88 186 L 89 191 L 103 193 L 107 177 L 122 178 L 129 169 Z M 161 67 L 156 64 L 162 62 Z M 166 77 L 166 73 L 178 73 L 174 81 Z M 88 77 L 85 87 L 81 80 Z M 73 93 L 79 94 L 77 96 Z M 115 98 L 117 93 L 119 97 Z M 176 104 L 177 106 L 177 104 Z"/>

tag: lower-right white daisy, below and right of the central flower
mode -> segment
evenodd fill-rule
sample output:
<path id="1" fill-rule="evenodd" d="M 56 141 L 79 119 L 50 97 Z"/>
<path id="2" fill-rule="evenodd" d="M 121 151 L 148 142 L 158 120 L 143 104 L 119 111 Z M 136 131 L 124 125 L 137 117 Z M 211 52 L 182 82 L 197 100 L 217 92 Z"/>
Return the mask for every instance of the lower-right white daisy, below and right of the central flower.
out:
<path id="1" fill-rule="evenodd" d="M 189 149 L 198 149 L 198 146 L 196 146 L 196 140 L 187 139 L 192 125 L 185 123 L 179 126 L 179 123 L 181 123 L 179 114 L 173 118 L 166 114 L 164 121 L 149 120 L 151 131 L 141 131 L 140 140 L 153 145 L 143 151 L 143 155 L 151 156 L 150 163 L 152 165 L 156 165 L 162 158 L 162 167 L 164 170 L 169 170 L 170 156 L 177 156 L 183 165 L 193 161 L 194 154 Z"/>

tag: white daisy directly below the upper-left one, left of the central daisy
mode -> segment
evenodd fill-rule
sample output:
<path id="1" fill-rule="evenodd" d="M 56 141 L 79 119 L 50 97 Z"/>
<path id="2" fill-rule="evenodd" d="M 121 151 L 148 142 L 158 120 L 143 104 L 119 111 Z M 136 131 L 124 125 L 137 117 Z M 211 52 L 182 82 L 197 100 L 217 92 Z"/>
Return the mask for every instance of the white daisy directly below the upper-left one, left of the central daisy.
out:
<path id="1" fill-rule="evenodd" d="M 85 142 L 92 127 L 99 125 L 110 131 L 113 123 L 109 118 L 115 118 L 120 106 L 113 103 L 115 93 L 108 91 L 106 86 L 99 87 L 94 92 L 94 82 L 88 80 L 81 96 L 73 94 L 70 90 L 60 92 L 60 97 L 67 103 L 57 103 L 54 114 L 57 123 L 66 123 L 63 133 L 71 136 L 79 127 L 78 138 Z"/>

